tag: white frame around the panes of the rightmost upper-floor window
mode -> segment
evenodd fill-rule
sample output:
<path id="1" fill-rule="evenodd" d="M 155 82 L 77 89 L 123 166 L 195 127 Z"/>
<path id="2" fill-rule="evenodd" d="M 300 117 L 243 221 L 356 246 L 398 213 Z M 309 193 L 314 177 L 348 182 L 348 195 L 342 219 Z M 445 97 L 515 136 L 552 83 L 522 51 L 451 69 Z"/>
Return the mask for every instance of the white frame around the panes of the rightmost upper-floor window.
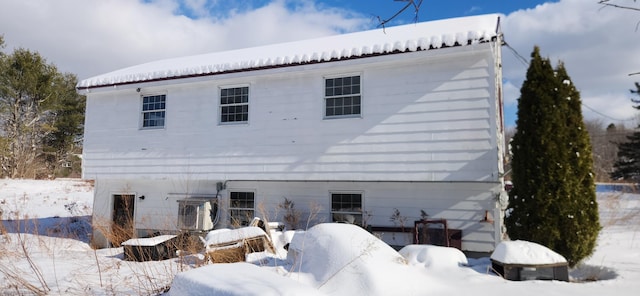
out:
<path id="1" fill-rule="evenodd" d="M 343 90 L 344 88 L 340 89 L 340 94 L 335 94 L 335 92 L 333 93 L 329 93 L 329 86 L 328 86 L 328 81 L 329 80 L 333 80 L 333 90 L 336 90 L 335 87 L 335 80 L 336 79 L 345 79 L 345 78 L 349 78 L 349 79 L 353 79 L 354 77 L 358 77 L 358 92 L 354 93 L 352 92 L 353 90 L 353 86 L 355 84 L 351 83 L 349 84 L 351 86 L 351 90 L 347 93 L 347 94 L 343 94 Z M 340 75 L 330 75 L 330 76 L 324 76 L 323 77 L 323 96 L 322 96 L 322 115 L 323 115 L 323 119 L 341 119 L 341 118 L 362 118 L 362 97 L 363 97 L 363 79 L 362 79 L 363 75 L 362 73 L 346 73 L 346 74 L 340 74 Z M 340 83 L 342 85 L 342 83 Z M 343 87 L 343 86 L 342 86 Z M 327 114 L 327 108 L 328 108 L 328 103 L 330 100 L 344 100 L 344 99 L 354 99 L 355 97 L 358 98 L 359 102 L 358 104 L 354 104 L 351 103 L 348 106 L 350 106 L 351 108 L 357 106 L 358 107 L 358 112 L 357 113 L 349 113 L 349 114 L 344 114 L 344 112 L 342 114 L 331 114 L 328 115 Z M 344 104 L 344 101 L 342 102 L 342 104 L 340 105 L 340 108 L 342 108 L 342 110 L 344 111 L 344 108 L 347 107 L 347 104 Z M 334 108 L 335 109 L 335 108 Z"/>

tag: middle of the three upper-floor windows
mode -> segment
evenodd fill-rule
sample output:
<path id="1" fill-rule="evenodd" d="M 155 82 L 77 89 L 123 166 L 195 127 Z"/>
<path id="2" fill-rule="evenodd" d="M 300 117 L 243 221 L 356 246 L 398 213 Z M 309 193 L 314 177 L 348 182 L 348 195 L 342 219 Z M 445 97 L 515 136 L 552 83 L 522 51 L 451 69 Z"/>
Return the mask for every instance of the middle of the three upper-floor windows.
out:
<path id="1" fill-rule="evenodd" d="M 249 120 L 249 87 L 220 89 L 220 122 L 247 122 Z"/>

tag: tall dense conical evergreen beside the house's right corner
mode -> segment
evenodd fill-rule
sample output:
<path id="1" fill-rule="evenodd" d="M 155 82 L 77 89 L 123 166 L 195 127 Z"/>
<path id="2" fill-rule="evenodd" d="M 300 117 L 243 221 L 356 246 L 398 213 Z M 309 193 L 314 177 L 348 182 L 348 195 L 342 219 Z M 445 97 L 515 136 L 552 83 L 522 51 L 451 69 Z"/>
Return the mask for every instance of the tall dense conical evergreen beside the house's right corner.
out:
<path id="1" fill-rule="evenodd" d="M 573 266 L 593 252 L 600 229 L 591 144 L 564 65 L 554 71 L 538 47 L 531 57 L 511 144 L 505 223 L 511 239 L 545 245 Z"/>

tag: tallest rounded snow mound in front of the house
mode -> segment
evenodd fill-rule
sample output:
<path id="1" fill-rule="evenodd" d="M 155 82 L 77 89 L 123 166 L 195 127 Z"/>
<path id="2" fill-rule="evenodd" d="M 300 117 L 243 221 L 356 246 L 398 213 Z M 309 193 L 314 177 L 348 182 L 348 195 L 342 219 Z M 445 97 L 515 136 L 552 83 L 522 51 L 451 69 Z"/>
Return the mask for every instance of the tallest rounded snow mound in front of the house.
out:
<path id="1" fill-rule="evenodd" d="M 318 224 L 296 233 L 287 261 L 299 278 L 329 295 L 412 295 L 424 282 L 416 268 L 361 227 Z"/>

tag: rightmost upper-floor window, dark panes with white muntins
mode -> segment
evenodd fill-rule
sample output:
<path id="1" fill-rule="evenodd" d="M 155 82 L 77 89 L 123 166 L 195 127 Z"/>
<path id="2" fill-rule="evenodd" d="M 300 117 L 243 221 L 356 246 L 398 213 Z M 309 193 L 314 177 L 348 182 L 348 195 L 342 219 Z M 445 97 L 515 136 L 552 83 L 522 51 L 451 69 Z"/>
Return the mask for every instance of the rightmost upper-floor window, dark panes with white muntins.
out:
<path id="1" fill-rule="evenodd" d="M 325 118 L 360 115 L 360 76 L 325 79 Z"/>

